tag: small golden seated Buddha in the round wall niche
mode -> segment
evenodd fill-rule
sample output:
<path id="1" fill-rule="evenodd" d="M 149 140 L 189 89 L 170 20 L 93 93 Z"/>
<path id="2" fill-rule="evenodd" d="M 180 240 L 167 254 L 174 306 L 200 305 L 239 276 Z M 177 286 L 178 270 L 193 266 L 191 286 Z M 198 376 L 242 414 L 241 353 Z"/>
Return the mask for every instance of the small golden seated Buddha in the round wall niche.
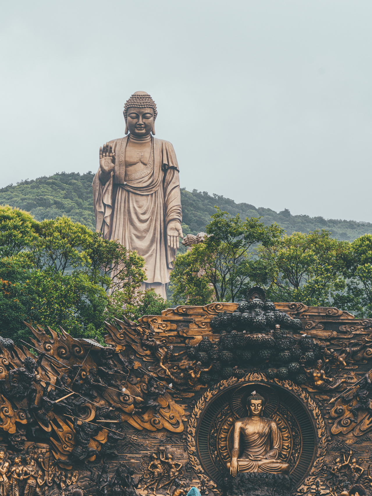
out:
<path id="1" fill-rule="evenodd" d="M 278 424 L 262 417 L 264 403 L 264 398 L 253 391 L 247 400 L 249 416 L 234 423 L 234 448 L 227 464 L 233 477 L 237 471 L 275 474 L 290 470 L 290 465 L 279 459 L 282 435 Z"/>

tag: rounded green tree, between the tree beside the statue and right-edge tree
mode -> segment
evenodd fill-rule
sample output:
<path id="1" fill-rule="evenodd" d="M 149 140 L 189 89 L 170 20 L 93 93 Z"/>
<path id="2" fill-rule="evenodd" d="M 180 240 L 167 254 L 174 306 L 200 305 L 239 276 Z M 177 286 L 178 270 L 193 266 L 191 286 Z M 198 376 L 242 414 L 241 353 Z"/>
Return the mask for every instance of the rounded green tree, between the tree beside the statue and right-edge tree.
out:
<path id="1" fill-rule="evenodd" d="M 346 288 L 351 245 L 331 238 L 329 231 L 293 233 L 272 246 L 258 247 L 257 253 L 251 275 L 266 285 L 274 301 L 331 306 L 333 294 Z"/>

